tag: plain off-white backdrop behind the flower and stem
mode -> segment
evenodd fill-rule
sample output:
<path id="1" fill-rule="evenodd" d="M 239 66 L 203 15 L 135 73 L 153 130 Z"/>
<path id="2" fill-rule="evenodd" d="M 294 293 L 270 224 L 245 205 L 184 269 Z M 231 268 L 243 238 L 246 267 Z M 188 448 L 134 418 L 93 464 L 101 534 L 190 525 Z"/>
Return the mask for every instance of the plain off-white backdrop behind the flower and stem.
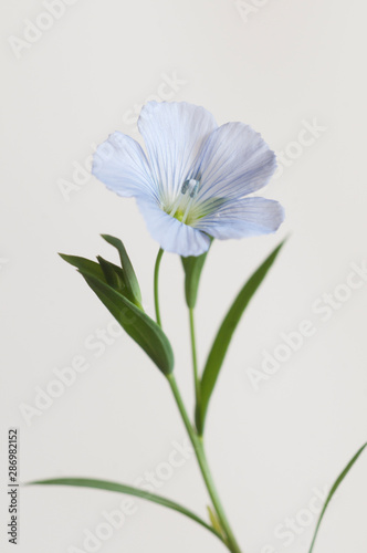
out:
<path id="1" fill-rule="evenodd" d="M 314 307 L 335 289 L 347 294 L 350 263 L 367 260 L 366 4 L 78 0 L 63 4 L 64 12 L 56 4 L 51 19 L 41 0 L 1 6 L 1 551 L 14 551 L 7 538 L 10 427 L 20 429 L 24 482 L 90 476 L 134 483 L 158 471 L 166 478 L 158 493 L 207 517 L 192 455 L 167 468 L 185 429 L 164 378 L 126 335 L 112 336 L 108 312 L 56 254 L 115 260 L 99 234 L 122 238 L 153 313 L 158 244 L 135 201 L 107 191 L 81 167 L 109 133 L 136 138 L 139 106 L 166 96 L 203 105 L 219 124 L 251 124 L 285 159 L 263 194 L 284 205 L 286 222 L 276 236 L 214 243 L 197 324 L 202 365 L 237 291 L 290 234 L 226 358 L 207 448 L 243 550 L 307 553 L 316 523 L 310 504 L 319 507 L 313 498 L 367 436 L 367 282 L 326 322 Z M 303 132 L 307 125 L 314 135 Z M 182 271 L 172 254 L 164 258 L 160 290 L 191 413 Z M 305 319 L 313 336 L 255 390 L 249 368 L 261 369 L 264 355 Z M 20 406 L 34 407 L 38 387 L 46 389 L 54 369 L 75 356 L 88 369 L 27 424 Z M 363 457 L 327 512 L 315 553 L 365 551 L 366 470 Z M 86 551 L 85 531 L 101 530 L 103 512 L 119 509 L 123 499 L 96 490 L 21 489 L 17 551 Z M 184 517 L 134 503 L 136 512 L 95 551 L 224 551 Z M 286 540 L 279 533 L 287 519 L 297 522 Z"/>

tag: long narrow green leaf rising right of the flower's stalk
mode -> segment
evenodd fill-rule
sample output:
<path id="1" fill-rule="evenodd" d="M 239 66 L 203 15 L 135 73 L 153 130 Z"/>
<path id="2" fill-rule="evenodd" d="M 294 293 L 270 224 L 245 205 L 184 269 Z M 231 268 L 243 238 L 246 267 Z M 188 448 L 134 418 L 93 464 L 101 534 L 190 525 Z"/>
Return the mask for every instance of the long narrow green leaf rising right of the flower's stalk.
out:
<path id="1" fill-rule="evenodd" d="M 201 401 L 196 411 L 196 424 L 198 432 L 200 435 L 203 432 L 205 420 L 211 394 L 214 389 L 217 378 L 222 367 L 232 335 L 241 320 L 245 307 L 249 305 L 252 296 L 254 295 L 258 288 L 264 280 L 268 271 L 274 263 L 283 244 L 284 241 L 280 246 L 277 246 L 275 250 L 273 250 L 273 252 L 268 257 L 262 265 L 248 280 L 248 282 L 244 284 L 244 286 L 235 298 L 234 302 L 232 303 L 218 331 L 201 378 Z"/>

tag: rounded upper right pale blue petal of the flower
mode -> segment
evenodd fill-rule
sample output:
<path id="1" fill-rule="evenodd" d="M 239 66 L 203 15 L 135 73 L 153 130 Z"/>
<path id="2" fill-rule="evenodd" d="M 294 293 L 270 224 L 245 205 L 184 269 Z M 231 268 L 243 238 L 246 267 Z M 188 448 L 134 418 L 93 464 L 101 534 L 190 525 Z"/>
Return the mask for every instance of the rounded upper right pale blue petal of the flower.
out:
<path id="1" fill-rule="evenodd" d="M 242 198 L 266 185 L 276 168 L 275 154 L 244 123 L 227 123 L 207 139 L 193 171 L 201 181 L 198 201 L 211 196 Z"/>

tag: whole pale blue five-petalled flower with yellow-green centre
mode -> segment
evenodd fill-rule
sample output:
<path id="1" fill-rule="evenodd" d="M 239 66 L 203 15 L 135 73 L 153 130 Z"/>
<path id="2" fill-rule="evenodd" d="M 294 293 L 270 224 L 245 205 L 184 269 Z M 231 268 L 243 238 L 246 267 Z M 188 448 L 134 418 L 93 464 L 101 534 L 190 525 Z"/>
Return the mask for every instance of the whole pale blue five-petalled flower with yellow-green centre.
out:
<path id="1" fill-rule="evenodd" d="M 210 238 L 274 232 L 277 201 L 248 197 L 268 184 L 276 161 L 260 134 L 243 123 L 218 127 L 203 107 L 149 102 L 139 144 L 116 132 L 98 146 L 93 174 L 119 196 L 134 196 L 164 250 L 199 255 Z"/>

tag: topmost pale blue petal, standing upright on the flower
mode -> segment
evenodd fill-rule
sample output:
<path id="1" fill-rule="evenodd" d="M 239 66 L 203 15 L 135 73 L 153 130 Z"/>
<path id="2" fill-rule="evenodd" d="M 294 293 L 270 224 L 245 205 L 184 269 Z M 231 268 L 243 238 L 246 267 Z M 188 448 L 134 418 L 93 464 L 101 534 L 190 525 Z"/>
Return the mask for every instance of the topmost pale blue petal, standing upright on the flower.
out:
<path id="1" fill-rule="evenodd" d="M 169 202 L 189 178 L 202 144 L 218 128 L 216 119 L 203 107 L 186 102 L 148 102 L 138 128 L 160 198 Z"/>

